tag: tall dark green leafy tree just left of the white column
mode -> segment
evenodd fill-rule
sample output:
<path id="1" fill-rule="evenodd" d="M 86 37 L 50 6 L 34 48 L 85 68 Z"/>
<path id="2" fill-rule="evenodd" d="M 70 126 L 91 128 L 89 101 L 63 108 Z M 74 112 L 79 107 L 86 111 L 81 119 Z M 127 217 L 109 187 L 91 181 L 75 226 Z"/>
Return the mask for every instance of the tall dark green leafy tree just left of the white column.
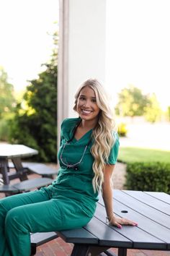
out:
<path id="1" fill-rule="evenodd" d="M 56 42 L 57 33 L 54 34 Z M 57 48 L 57 46 L 55 46 Z M 37 80 L 31 80 L 11 121 L 11 142 L 39 151 L 36 161 L 56 162 L 57 152 L 57 51 Z"/>

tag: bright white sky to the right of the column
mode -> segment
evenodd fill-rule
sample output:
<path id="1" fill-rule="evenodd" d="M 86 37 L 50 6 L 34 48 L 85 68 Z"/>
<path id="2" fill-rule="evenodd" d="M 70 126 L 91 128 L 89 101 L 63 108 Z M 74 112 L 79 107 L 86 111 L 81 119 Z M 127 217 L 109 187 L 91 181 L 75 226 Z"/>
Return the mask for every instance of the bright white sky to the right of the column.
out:
<path id="1" fill-rule="evenodd" d="M 107 0 L 107 84 L 134 85 L 170 106 L 170 1 Z"/>

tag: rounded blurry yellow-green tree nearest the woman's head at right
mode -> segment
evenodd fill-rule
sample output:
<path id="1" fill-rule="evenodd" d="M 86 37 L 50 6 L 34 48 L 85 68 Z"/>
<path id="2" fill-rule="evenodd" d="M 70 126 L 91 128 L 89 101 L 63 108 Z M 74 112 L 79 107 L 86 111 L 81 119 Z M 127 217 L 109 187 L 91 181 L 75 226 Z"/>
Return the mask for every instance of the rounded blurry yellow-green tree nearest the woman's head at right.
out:
<path id="1" fill-rule="evenodd" d="M 141 90 L 133 85 L 122 89 L 118 98 L 115 111 L 121 116 L 142 116 L 144 107 L 148 103 L 147 95 L 143 95 Z"/>

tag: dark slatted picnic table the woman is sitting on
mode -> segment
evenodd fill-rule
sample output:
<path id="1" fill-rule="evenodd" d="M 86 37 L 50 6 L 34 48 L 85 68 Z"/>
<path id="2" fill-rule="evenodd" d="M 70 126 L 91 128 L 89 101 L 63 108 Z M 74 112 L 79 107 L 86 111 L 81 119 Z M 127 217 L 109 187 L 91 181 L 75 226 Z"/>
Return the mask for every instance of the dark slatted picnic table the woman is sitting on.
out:
<path id="1" fill-rule="evenodd" d="M 118 248 L 118 256 L 126 256 L 127 249 L 170 250 L 170 195 L 164 192 L 130 190 L 113 191 L 117 216 L 138 222 L 138 226 L 118 229 L 106 223 L 102 196 L 99 197 L 94 218 L 82 229 L 57 232 L 73 243 L 71 256 L 115 255 L 109 250 Z"/>

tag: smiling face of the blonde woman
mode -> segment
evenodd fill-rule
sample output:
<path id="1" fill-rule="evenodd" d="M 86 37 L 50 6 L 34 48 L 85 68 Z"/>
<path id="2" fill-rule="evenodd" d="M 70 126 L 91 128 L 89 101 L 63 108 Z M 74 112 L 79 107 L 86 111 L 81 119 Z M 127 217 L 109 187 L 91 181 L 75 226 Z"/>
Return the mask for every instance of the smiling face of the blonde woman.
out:
<path id="1" fill-rule="evenodd" d="M 94 90 L 89 86 L 84 87 L 77 101 L 77 112 L 81 119 L 86 121 L 97 121 L 100 108 L 97 106 Z M 96 119 L 96 120 L 95 120 Z"/>

